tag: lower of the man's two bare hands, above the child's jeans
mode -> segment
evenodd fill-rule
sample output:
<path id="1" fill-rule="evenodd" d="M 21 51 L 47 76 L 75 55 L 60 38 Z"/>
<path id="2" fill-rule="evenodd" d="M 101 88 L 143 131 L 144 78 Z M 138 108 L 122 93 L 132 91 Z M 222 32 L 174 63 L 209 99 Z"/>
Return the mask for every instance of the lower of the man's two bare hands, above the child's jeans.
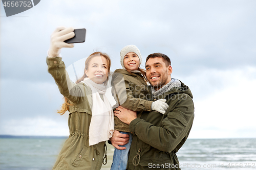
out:
<path id="1" fill-rule="evenodd" d="M 113 136 L 110 138 L 110 141 L 113 145 L 118 150 L 125 150 L 125 147 L 119 147 L 119 145 L 124 145 L 129 142 L 129 135 L 128 134 L 123 134 L 120 133 L 119 131 L 114 131 Z"/>

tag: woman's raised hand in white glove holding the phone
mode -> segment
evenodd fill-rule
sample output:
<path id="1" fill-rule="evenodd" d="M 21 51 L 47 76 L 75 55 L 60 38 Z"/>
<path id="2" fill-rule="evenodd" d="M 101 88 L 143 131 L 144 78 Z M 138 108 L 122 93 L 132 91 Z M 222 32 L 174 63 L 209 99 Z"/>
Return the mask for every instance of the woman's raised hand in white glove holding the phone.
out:
<path id="1" fill-rule="evenodd" d="M 75 36 L 73 28 L 58 27 L 51 35 L 51 45 L 49 48 L 49 57 L 57 57 L 62 47 L 72 48 L 74 44 L 68 44 L 64 41 Z"/>

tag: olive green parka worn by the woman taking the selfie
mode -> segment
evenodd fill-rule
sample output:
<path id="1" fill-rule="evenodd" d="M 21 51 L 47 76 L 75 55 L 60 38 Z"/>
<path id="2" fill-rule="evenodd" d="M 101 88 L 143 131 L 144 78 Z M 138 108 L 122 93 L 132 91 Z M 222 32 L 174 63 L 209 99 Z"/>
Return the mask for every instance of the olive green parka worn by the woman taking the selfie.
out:
<path id="1" fill-rule="evenodd" d="M 105 142 L 89 146 L 89 125 L 92 116 L 90 87 L 70 81 L 60 57 L 47 57 L 47 64 L 48 72 L 54 78 L 60 93 L 71 104 L 68 120 L 70 136 L 64 143 L 53 169 L 100 169 Z"/>

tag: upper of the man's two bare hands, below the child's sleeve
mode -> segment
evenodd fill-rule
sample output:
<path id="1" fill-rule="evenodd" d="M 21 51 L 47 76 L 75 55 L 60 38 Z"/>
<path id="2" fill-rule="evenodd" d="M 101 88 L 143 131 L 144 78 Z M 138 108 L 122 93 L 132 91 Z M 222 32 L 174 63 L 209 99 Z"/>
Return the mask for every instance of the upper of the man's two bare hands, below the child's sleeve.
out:
<path id="1" fill-rule="evenodd" d="M 117 116 L 123 123 L 130 125 L 132 120 L 137 118 L 137 112 L 125 109 L 122 106 L 119 106 L 114 110 L 115 116 Z"/>

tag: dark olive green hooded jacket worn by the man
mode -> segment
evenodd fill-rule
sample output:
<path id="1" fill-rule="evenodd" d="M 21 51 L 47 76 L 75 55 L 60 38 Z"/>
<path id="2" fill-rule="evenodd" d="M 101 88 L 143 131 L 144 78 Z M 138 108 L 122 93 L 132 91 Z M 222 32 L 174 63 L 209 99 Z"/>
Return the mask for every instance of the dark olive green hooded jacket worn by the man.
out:
<path id="1" fill-rule="evenodd" d="M 159 96 L 169 105 L 165 114 L 157 111 L 143 112 L 129 128 L 133 135 L 128 169 L 180 169 L 176 156 L 186 141 L 194 120 L 193 95 L 181 82 Z M 135 166 L 136 165 L 136 166 Z M 161 167 L 161 166 L 159 166 Z"/>

